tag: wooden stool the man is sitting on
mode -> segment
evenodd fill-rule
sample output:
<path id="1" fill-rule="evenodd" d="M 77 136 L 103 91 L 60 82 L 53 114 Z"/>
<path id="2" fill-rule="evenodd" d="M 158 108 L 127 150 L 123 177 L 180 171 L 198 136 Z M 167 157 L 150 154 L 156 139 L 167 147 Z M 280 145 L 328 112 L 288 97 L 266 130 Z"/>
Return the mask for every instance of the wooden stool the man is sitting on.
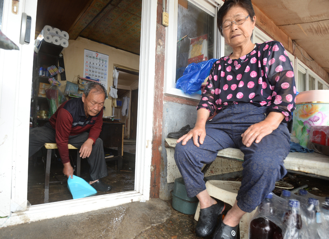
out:
<path id="1" fill-rule="evenodd" d="M 72 144 L 67 144 L 69 150 L 78 150 Z M 58 149 L 56 143 L 45 143 L 47 149 L 47 161 L 46 161 L 46 176 L 45 176 L 45 203 L 49 202 L 49 177 L 50 177 L 50 163 L 51 163 L 51 150 Z M 77 176 L 80 177 L 81 158 L 79 152 L 77 152 Z"/>

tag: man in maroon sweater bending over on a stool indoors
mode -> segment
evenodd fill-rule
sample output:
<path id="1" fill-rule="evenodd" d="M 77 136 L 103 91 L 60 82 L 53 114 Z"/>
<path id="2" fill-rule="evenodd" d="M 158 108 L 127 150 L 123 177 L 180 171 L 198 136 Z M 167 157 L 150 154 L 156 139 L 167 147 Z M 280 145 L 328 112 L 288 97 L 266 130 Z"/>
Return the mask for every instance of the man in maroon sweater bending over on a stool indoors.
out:
<path id="1" fill-rule="evenodd" d="M 80 157 L 87 158 L 90 166 L 90 181 L 97 191 L 106 192 L 112 186 L 101 180 L 108 175 L 103 141 L 98 138 L 103 124 L 103 105 L 106 89 L 90 82 L 84 88 L 82 98 L 65 101 L 42 127 L 30 130 L 29 157 L 38 152 L 44 143 L 57 143 L 64 165 L 63 173 L 73 175 L 67 144 L 80 149 Z"/>

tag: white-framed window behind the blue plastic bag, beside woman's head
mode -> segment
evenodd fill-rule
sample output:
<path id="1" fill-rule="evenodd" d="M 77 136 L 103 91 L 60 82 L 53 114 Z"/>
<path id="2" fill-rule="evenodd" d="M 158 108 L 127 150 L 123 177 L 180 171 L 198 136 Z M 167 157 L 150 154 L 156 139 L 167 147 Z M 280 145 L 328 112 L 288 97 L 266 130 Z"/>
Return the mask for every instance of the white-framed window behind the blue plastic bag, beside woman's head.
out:
<path id="1" fill-rule="evenodd" d="M 219 5 L 210 0 L 168 0 L 167 4 L 165 94 L 199 100 L 199 94 L 177 89 L 176 81 L 190 63 L 219 58 Z"/>

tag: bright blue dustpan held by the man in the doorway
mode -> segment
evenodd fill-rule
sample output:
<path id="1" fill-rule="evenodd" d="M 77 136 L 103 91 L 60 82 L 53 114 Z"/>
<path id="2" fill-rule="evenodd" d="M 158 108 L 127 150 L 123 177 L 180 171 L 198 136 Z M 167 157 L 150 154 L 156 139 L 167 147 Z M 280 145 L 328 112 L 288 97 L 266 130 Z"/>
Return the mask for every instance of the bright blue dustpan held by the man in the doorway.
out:
<path id="1" fill-rule="evenodd" d="M 96 189 L 89 185 L 84 179 L 73 175 L 73 178 L 68 177 L 67 188 L 70 190 L 73 199 L 93 196 L 97 193 Z"/>

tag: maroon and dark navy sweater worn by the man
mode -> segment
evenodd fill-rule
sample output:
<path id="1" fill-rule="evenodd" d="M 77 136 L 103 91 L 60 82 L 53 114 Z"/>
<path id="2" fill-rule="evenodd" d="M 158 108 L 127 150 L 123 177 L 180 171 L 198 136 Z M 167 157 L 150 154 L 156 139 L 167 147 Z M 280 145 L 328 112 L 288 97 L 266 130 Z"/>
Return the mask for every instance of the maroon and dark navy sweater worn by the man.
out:
<path id="1" fill-rule="evenodd" d="M 56 130 L 56 143 L 63 163 L 70 161 L 68 155 L 68 137 L 89 130 L 88 139 L 94 144 L 103 125 L 103 109 L 96 116 L 86 118 L 81 98 L 65 101 L 50 117 L 49 123 Z"/>

